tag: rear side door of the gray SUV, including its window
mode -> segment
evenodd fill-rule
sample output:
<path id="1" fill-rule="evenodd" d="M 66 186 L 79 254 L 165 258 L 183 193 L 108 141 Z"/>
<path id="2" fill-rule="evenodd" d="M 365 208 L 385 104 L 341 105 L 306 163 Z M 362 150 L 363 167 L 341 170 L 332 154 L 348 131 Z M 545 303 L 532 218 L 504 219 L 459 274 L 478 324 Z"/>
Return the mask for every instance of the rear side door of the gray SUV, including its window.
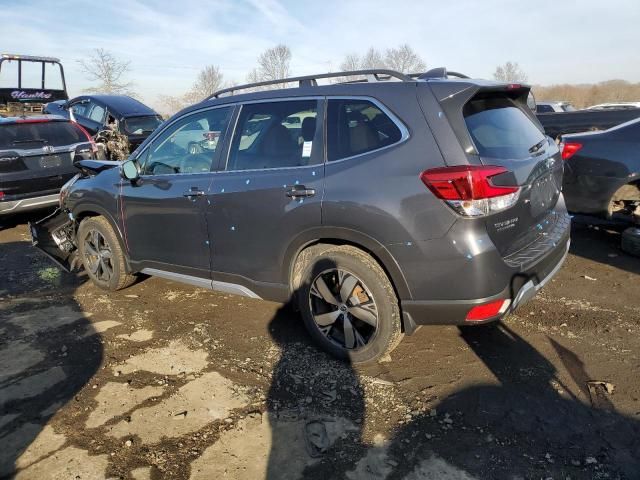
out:
<path id="1" fill-rule="evenodd" d="M 241 107 L 208 194 L 214 280 L 249 288 L 286 282 L 285 251 L 321 223 L 322 110 L 319 99 Z"/>

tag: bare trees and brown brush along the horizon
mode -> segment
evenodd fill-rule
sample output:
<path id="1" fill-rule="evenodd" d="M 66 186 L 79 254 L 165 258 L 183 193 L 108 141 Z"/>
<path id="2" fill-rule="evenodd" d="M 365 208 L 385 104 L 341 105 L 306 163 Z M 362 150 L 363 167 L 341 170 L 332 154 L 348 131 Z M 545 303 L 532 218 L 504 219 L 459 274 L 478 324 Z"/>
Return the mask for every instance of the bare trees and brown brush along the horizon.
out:
<path id="1" fill-rule="evenodd" d="M 272 81 L 292 76 L 291 49 L 287 45 L 276 45 L 262 52 L 256 59 L 256 66 L 246 77 L 247 83 Z M 96 49 L 85 60 L 80 60 L 80 69 L 94 85 L 87 91 L 96 93 L 127 94 L 135 96 L 133 83 L 126 81 L 130 73 L 130 63 L 116 58 L 104 49 Z M 386 68 L 402 73 L 420 73 L 427 70 L 427 64 L 410 45 L 403 44 L 386 50 L 369 48 L 364 53 L 347 54 L 340 63 L 340 71 Z M 527 82 L 528 75 L 518 62 L 507 61 L 498 65 L 493 78 L 502 82 Z M 346 78 L 336 78 L 343 81 Z M 182 108 L 202 101 L 214 92 L 236 84 L 225 78 L 217 65 L 207 65 L 198 72 L 191 88 L 182 95 L 161 95 L 159 103 L 166 113 L 175 113 Z M 263 87 L 278 88 L 279 86 Z M 534 85 L 537 100 L 564 100 L 578 108 L 598 103 L 640 101 L 640 83 L 625 80 L 609 80 L 597 84 Z"/>

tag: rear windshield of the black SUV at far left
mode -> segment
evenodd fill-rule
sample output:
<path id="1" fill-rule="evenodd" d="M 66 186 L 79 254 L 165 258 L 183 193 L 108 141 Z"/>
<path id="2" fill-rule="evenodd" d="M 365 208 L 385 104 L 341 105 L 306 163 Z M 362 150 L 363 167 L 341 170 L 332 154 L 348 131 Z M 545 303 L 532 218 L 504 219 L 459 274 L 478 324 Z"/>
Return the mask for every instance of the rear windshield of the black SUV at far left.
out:
<path id="1" fill-rule="evenodd" d="M 69 122 L 0 124 L 0 149 L 61 147 L 87 142 L 80 129 Z"/>

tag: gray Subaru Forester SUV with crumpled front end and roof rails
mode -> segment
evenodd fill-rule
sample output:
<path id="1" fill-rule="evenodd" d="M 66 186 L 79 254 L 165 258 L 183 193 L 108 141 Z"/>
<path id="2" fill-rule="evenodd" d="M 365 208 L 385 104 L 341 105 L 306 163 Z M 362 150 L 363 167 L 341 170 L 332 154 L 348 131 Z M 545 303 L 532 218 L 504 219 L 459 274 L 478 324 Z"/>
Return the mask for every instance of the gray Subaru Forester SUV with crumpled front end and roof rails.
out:
<path id="1" fill-rule="evenodd" d="M 183 110 L 116 168 L 80 162 L 34 243 L 107 290 L 147 274 L 293 300 L 353 362 L 419 325 L 499 320 L 560 268 L 563 165 L 528 86 L 445 69 L 267 83 Z"/>

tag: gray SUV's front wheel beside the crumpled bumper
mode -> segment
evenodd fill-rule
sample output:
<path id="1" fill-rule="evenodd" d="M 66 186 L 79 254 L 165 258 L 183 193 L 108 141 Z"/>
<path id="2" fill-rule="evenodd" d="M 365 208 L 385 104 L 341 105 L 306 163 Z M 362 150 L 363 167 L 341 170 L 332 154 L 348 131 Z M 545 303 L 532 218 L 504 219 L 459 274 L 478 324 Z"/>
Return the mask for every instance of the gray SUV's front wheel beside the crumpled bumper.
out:
<path id="1" fill-rule="evenodd" d="M 84 219 L 76 238 L 82 265 L 96 286 L 116 291 L 136 281 L 135 275 L 127 273 L 124 252 L 106 218 Z"/>

